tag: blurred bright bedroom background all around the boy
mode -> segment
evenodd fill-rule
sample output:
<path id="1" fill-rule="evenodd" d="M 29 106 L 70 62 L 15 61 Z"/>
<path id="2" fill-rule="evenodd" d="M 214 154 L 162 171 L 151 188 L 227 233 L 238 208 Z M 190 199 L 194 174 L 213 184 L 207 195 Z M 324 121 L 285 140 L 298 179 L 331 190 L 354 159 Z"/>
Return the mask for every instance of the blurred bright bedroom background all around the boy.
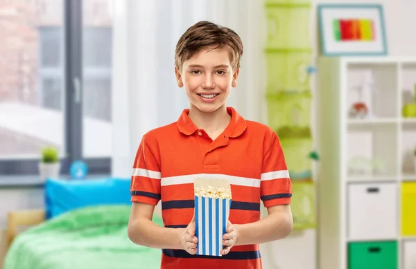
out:
<path id="1" fill-rule="evenodd" d="M 189 106 L 175 44 L 200 20 L 243 40 L 227 105 L 277 132 L 293 180 L 294 229 L 261 245 L 264 268 L 416 268 L 415 12 L 416 0 L 0 0 L 0 268 L 157 268 L 160 252 L 136 253 L 123 232 L 131 168 L 141 136 Z M 343 28 L 352 16 L 372 33 Z M 347 32 L 375 45 L 336 50 Z M 105 205 L 125 223 L 51 243 L 56 225 L 111 222 L 92 209 Z"/>

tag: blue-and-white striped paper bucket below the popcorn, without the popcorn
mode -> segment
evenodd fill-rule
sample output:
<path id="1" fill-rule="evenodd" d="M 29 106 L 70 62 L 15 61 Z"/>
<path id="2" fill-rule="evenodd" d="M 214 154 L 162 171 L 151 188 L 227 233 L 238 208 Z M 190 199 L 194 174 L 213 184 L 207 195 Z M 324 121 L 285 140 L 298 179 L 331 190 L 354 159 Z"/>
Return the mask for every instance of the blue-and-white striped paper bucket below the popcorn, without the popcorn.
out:
<path id="1" fill-rule="evenodd" d="M 230 207 L 231 199 L 195 196 L 196 254 L 222 256 Z"/>

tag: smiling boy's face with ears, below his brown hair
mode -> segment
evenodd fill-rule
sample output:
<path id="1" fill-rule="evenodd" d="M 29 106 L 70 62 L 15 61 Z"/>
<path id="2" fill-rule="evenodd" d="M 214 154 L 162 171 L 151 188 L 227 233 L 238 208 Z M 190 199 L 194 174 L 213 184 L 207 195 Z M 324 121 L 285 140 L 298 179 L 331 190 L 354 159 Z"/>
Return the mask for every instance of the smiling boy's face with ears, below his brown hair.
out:
<path id="1" fill-rule="evenodd" d="M 209 113 L 225 106 L 231 87 L 237 85 L 239 70 L 233 71 L 227 47 L 205 48 L 184 61 L 182 71 L 175 68 L 175 75 L 191 107 Z"/>

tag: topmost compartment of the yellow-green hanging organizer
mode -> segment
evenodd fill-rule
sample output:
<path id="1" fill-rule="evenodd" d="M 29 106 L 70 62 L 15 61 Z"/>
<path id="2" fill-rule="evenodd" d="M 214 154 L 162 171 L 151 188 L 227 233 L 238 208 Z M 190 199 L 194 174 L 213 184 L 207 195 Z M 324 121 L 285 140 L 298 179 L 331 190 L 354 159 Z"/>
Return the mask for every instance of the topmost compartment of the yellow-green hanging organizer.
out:
<path id="1" fill-rule="evenodd" d="M 267 48 L 309 48 L 310 3 L 266 3 Z"/>

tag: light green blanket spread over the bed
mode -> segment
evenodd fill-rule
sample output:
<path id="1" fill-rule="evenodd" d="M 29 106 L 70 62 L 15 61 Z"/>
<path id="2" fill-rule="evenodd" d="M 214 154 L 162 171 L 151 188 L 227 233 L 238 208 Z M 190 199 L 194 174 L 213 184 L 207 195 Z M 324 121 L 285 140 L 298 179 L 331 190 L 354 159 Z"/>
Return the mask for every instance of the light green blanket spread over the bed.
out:
<path id="1" fill-rule="evenodd" d="M 130 206 L 96 206 L 46 221 L 17 236 L 4 269 L 160 268 L 160 250 L 128 239 L 129 214 Z"/>

